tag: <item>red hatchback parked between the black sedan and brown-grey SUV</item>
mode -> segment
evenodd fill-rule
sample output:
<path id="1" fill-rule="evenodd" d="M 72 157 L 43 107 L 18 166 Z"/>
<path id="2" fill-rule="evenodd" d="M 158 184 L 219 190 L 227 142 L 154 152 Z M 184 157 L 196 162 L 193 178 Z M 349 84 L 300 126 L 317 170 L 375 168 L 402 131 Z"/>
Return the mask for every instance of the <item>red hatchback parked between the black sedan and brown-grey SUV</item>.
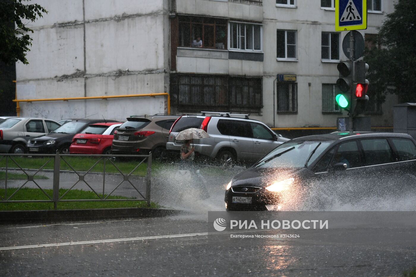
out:
<path id="1" fill-rule="evenodd" d="M 121 122 L 95 123 L 76 134 L 69 146 L 70 154 L 104 154 L 111 153 L 114 131 Z"/>

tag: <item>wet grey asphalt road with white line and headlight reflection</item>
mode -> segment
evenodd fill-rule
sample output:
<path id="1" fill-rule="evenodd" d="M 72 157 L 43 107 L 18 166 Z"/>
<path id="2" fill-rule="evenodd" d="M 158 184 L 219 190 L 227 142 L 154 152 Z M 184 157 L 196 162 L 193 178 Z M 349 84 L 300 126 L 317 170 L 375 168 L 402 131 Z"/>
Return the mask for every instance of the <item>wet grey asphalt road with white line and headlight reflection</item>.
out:
<path id="1" fill-rule="evenodd" d="M 277 232 L 215 232 L 195 214 L 2 225 L 0 265 L 3 276 L 394 276 L 416 262 L 410 233 L 392 240 L 384 230 L 350 230 L 356 243 L 339 239 L 337 230 L 326 240 L 305 230 L 296 231 L 305 239 L 230 238 Z M 384 242 L 358 239 L 368 232 Z"/>

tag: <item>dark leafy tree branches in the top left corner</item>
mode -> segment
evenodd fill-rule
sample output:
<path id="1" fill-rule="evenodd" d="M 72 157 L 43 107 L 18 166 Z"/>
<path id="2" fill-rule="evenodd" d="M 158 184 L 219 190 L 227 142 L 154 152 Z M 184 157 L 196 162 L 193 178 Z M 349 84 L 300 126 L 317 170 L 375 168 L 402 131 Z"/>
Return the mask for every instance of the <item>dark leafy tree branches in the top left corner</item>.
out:
<path id="1" fill-rule="evenodd" d="M 47 13 L 44 7 L 25 5 L 24 1 L 29 0 L 0 0 L 0 60 L 6 64 L 29 63 L 26 52 L 30 51 L 32 38 L 28 33 L 33 30 L 27 26 Z"/>

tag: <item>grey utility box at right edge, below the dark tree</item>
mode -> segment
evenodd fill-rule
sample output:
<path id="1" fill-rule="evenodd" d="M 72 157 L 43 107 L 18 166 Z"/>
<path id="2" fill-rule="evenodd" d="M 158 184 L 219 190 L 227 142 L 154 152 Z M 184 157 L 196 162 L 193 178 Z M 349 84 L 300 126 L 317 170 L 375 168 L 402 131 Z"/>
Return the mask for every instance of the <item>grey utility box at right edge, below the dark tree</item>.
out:
<path id="1" fill-rule="evenodd" d="M 409 134 L 416 139 L 416 103 L 393 106 L 394 133 Z"/>

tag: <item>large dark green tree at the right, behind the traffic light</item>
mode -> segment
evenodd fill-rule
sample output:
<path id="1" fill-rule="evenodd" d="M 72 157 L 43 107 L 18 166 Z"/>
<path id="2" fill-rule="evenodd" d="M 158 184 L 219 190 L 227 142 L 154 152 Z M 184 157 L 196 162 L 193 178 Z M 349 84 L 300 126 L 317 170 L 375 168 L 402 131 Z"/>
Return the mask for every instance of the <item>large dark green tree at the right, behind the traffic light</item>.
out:
<path id="1" fill-rule="evenodd" d="M 416 102 L 416 5 L 414 0 L 399 0 L 394 12 L 386 15 L 379 35 L 366 49 L 369 64 L 369 96 L 384 102 L 387 93 L 401 102 Z"/>

